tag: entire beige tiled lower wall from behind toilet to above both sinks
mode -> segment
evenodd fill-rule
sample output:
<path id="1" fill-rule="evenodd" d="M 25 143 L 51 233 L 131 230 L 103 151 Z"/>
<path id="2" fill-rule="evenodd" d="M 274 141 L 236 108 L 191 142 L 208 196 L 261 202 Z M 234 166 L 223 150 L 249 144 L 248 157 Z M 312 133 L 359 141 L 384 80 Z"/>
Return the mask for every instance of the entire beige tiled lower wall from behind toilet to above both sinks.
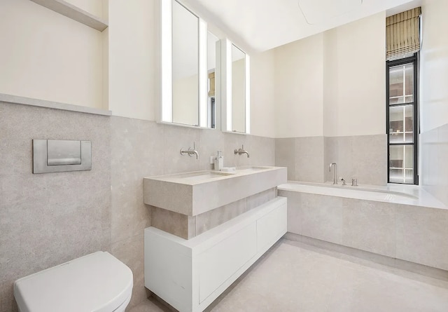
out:
<path id="1" fill-rule="evenodd" d="M 92 170 L 32 174 L 32 139 L 91 140 Z M 181 156 L 193 147 L 200 159 Z M 251 158 L 233 154 L 241 147 Z M 143 177 L 224 165 L 274 165 L 274 139 L 131 118 L 0 103 L 0 311 L 16 311 L 14 280 L 97 250 L 134 273 L 130 306 L 146 298 Z"/>

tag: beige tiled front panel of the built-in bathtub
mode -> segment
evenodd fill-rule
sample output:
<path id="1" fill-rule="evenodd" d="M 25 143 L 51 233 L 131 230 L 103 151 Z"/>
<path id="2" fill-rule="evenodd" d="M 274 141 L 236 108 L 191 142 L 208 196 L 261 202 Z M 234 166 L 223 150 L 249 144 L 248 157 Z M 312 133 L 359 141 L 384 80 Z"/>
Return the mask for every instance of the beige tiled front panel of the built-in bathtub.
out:
<path id="1" fill-rule="evenodd" d="M 448 209 L 279 189 L 288 232 L 448 270 Z"/>

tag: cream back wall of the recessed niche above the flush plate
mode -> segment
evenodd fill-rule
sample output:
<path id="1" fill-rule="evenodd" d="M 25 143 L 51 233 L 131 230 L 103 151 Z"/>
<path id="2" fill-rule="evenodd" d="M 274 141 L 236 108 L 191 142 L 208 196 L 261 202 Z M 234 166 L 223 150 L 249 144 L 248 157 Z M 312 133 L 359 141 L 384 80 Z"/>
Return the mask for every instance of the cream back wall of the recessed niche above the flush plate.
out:
<path id="1" fill-rule="evenodd" d="M 29 0 L 0 1 L 0 93 L 102 108 L 101 32 Z"/>

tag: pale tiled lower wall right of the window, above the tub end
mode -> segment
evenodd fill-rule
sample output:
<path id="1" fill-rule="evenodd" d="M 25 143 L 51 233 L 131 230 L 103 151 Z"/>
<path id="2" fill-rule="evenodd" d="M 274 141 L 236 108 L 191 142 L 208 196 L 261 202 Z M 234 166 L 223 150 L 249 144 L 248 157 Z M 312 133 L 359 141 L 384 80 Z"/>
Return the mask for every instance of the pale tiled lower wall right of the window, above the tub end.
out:
<path id="1" fill-rule="evenodd" d="M 448 205 L 448 124 L 421 133 L 420 184 Z"/>

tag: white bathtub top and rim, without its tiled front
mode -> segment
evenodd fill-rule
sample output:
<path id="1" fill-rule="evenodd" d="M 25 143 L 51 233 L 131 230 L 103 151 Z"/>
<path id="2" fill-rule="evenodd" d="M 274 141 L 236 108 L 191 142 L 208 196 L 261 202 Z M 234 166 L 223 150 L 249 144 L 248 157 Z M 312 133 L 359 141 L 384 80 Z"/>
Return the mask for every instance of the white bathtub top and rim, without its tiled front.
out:
<path id="1" fill-rule="evenodd" d="M 281 191 L 297 191 L 308 194 L 337 196 L 344 198 L 363 199 L 366 201 L 381 201 L 384 203 L 399 203 L 430 208 L 448 209 L 420 186 L 405 184 L 388 184 L 387 186 L 359 185 L 350 186 L 331 182 L 310 183 L 289 181 L 278 186 Z"/>

